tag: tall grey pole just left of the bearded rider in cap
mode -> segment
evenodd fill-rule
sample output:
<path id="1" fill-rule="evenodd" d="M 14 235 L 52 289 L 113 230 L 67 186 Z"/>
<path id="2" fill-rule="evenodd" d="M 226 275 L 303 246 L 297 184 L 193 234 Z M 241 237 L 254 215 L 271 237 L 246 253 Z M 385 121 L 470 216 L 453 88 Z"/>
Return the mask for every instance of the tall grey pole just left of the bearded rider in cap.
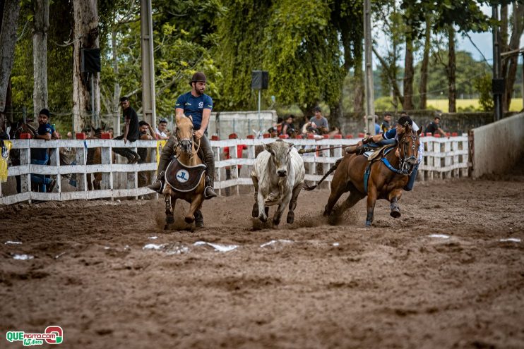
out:
<path id="1" fill-rule="evenodd" d="M 142 47 L 142 110 L 143 120 L 156 125 L 155 57 L 153 56 L 153 19 L 151 0 L 140 1 L 140 32 Z"/>

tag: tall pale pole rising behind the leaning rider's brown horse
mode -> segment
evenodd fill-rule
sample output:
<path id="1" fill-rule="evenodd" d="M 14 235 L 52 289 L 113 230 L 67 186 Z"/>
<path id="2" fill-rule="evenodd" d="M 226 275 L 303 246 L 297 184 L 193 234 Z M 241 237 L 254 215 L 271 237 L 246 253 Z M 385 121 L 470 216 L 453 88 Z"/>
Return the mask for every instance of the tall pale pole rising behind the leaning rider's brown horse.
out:
<path id="1" fill-rule="evenodd" d="M 364 0 L 364 52 L 366 61 L 366 116 L 367 132 L 375 134 L 375 106 L 373 89 L 373 56 L 371 42 L 371 2 Z"/>

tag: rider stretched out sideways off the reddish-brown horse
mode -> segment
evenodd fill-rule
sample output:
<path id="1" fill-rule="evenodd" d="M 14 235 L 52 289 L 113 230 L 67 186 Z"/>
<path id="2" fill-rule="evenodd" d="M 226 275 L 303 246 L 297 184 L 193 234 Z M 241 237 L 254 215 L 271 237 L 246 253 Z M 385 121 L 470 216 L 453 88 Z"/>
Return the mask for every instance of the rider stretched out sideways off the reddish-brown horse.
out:
<path id="1" fill-rule="evenodd" d="M 394 140 L 394 143 L 398 143 L 399 136 L 403 135 L 408 125 L 411 126 L 412 130 L 414 130 L 415 132 L 419 130 L 419 126 L 415 123 L 415 121 L 412 121 L 409 116 L 401 116 L 398 119 L 395 128 L 388 130 L 388 132 L 386 133 L 380 133 L 379 135 L 364 138 L 364 140 L 358 142 L 358 145 L 352 145 L 350 147 L 347 147 L 345 149 L 345 152 L 347 152 L 348 154 L 363 154 L 364 152 L 367 152 L 369 150 L 378 149 L 383 145 L 391 144 L 391 140 Z M 424 145 L 422 144 L 422 142 L 420 142 L 418 149 L 417 164 L 413 168 L 413 171 L 410 174 L 410 179 L 407 181 L 404 190 L 410 191 L 413 189 L 413 185 L 415 185 L 415 179 L 417 179 L 419 164 L 422 162 L 423 155 Z"/>

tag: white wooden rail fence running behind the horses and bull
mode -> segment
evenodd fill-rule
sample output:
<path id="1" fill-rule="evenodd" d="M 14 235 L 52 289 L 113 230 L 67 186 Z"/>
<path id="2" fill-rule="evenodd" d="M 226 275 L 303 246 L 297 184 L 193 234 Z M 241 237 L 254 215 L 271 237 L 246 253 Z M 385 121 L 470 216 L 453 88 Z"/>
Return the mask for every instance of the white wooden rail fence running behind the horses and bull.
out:
<path id="1" fill-rule="evenodd" d="M 468 176 L 468 137 L 423 137 L 424 161 L 419 168 L 418 180 Z M 224 190 L 239 192 L 239 186 L 253 185 L 251 182 L 251 166 L 262 143 L 274 142 L 274 139 L 262 140 L 218 140 L 211 141 L 215 152 L 215 188 L 220 195 Z M 340 145 L 355 145 L 359 139 L 323 139 L 323 140 L 286 140 L 292 142 L 297 149 L 318 149 Z M 157 141 L 139 140 L 127 143 L 121 140 L 12 140 L 13 149 L 20 149 L 20 166 L 11 166 L 8 177 L 20 176 L 21 192 L 13 195 L 3 195 L 0 183 L 0 204 L 13 204 L 31 200 L 89 200 L 117 197 L 141 197 L 152 194 L 148 188 L 138 188 L 138 172 L 148 171 L 154 176 L 157 169 Z M 237 157 L 237 147 L 245 146 L 242 157 Z M 87 152 L 90 148 L 100 147 L 102 164 L 86 164 Z M 112 148 L 128 147 L 136 151 L 137 147 L 148 148 L 151 161 L 144 164 L 113 164 Z M 230 147 L 231 159 L 225 159 L 224 150 Z M 258 149 L 257 149 L 258 147 Z M 30 164 L 30 148 L 49 148 L 50 165 Z M 60 149 L 74 149 L 76 164 L 61 166 Z M 316 182 L 325 174 L 335 161 L 344 154 L 343 148 L 321 150 L 303 154 L 306 167 L 306 180 Z M 119 155 L 117 155 L 119 157 Z M 118 161 L 117 161 L 118 162 Z M 241 169 L 242 167 L 242 169 Z M 226 171 L 227 170 L 227 171 Z M 56 178 L 53 192 L 35 192 L 31 189 L 30 173 L 49 175 Z M 62 190 L 61 177 L 76 173 L 76 190 Z M 87 174 L 102 173 L 100 190 L 88 190 Z M 121 177 L 124 176 L 124 180 Z M 333 175 L 326 178 L 330 182 Z M 5 183 L 4 183 L 5 186 Z M 228 189 L 229 188 L 229 189 Z M 4 190 L 5 192 L 5 190 Z"/>

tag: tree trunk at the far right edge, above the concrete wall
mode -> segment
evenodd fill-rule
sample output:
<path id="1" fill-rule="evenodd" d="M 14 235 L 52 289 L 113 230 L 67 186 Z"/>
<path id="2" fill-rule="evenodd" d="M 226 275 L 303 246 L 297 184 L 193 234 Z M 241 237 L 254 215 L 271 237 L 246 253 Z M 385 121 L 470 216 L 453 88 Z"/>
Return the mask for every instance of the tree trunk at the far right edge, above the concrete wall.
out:
<path id="1" fill-rule="evenodd" d="M 513 27 L 511 31 L 511 39 L 507 45 L 507 51 L 518 49 L 520 37 L 524 29 L 524 5 L 513 2 Z M 504 111 L 509 110 L 511 105 L 511 94 L 513 92 L 513 85 L 515 84 L 517 75 L 518 54 L 512 54 L 508 59 L 504 60 L 502 65 L 502 74 L 506 78 L 506 86 L 504 94 L 502 95 L 502 108 Z"/>

